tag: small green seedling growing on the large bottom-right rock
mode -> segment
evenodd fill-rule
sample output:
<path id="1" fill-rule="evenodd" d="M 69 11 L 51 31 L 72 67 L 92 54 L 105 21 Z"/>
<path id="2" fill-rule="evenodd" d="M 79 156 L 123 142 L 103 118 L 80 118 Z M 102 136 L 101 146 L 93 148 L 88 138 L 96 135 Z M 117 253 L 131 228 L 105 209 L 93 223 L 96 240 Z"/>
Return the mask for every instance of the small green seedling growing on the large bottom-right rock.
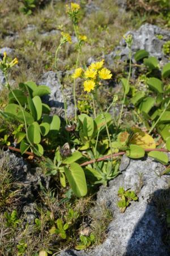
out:
<path id="1" fill-rule="evenodd" d="M 118 196 L 120 196 L 121 200 L 117 202 L 117 205 L 122 213 L 126 211 L 126 208 L 130 205 L 131 201 L 138 200 L 138 196 L 135 194 L 135 191 L 125 191 L 123 187 L 119 188 Z"/>

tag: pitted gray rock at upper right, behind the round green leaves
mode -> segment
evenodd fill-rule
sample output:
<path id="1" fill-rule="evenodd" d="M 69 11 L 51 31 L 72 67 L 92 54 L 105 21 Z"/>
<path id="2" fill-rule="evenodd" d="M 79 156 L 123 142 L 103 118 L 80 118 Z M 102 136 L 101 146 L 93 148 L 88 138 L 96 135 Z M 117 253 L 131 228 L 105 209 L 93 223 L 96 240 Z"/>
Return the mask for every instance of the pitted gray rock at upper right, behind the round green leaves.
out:
<path id="1" fill-rule="evenodd" d="M 133 56 L 138 50 L 145 49 L 150 53 L 151 56 L 155 56 L 162 61 L 163 64 L 168 62 L 168 58 L 164 55 L 162 47 L 166 41 L 170 40 L 169 31 L 162 30 L 162 28 L 158 26 L 146 23 L 137 31 L 127 32 L 126 36 L 129 34 L 133 35 L 133 46 L 131 48 Z M 159 39 L 158 35 L 162 35 L 163 38 Z M 124 39 L 120 41 L 120 45 L 118 45 L 113 52 L 105 56 L 105 60 L 107 61 L 108 65 L 113 68 L 114 60 L 117 57 L 119 57 L 121 61 L 125 61 L 127 58 L 129 58 L 129 49 Z"/>

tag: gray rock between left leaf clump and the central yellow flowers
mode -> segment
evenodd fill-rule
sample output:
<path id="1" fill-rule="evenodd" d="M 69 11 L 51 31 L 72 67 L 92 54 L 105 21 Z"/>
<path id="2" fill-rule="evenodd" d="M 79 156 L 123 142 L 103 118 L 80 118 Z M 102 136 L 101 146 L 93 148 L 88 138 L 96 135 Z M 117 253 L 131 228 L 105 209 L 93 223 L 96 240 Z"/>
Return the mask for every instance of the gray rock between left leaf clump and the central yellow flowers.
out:
<path id="1" fill-rule="evenodd" d="M 51 90 L 50 96 L 45 96 L 44 100 L 52 108 L 52 112 L 64 117 L 64 104 L 63 96 L 61 91 L 61 85 L 57 78 L 57 74 L 53 71 L 46 72 L 42 74 L 42 77 L 37 82 L 38 85 L 49 86 Z M 67 100 L 67 115 L 68 117 L 73 117 L 74 115 L 74 104 L 72 100 L 72 89 L 66 88 L 63 90 L 66 100 Z"/>

